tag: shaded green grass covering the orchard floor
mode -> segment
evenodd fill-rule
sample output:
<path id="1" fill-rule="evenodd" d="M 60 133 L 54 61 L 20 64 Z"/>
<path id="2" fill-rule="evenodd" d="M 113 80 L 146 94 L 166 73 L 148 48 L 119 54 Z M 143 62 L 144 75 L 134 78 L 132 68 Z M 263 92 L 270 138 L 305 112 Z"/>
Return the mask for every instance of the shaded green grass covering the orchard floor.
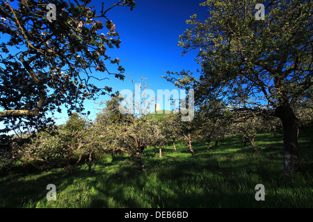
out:
<path id="1" fill-rule="evenodd" d="M 147 172 L 127 155 L 86 164 L 73 176 L 63 169 L 26 173 L 16 168 L 0 178 L 0 207 L 313 207 L 313 130 L 299 136 L 300 172 L 282 174 L 282 137 L 259 134 L 258 153 L 238 138 L 217 148 L 193 143 L 172 146 L 163 155 L 149 148 L 143 154 Z M 213 147 L 213 145 L 212 145 Z M 48 201 L 48 184 L 56 185 L 56 200 Z M 265 187 L 265 200 L 255 200 L 255 185 Z"/>

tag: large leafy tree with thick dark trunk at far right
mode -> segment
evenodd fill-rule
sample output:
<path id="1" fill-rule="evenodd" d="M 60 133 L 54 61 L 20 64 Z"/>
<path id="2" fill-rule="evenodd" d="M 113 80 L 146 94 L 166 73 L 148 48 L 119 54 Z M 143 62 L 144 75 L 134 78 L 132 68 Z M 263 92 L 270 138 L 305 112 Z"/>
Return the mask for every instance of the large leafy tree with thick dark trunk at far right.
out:
<path id="1" fill-rule="evenodd" d="M 298 168 L 294 105 L 313 85 L 312 1 L 208 0 L 201 6 L 209 9 L 205 22 L 193 15 L 186 21 L 191 28 L 179 37 L 183 54 L 198 51 L 200 77 L 168 71 L 166 78 L 192 87 L 195 104 L 218 98 L 234 111 L 270 111 L 279 117 L 283 171 L 289 174 Z"/>

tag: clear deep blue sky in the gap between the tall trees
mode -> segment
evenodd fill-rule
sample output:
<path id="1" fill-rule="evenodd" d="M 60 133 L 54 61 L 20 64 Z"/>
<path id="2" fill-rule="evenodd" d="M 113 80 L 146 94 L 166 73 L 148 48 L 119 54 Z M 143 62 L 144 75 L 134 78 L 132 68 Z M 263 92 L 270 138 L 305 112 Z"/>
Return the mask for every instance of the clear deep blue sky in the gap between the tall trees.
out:
<path id="1" fill-rule="evenodd" d="M 93 0 L 90 6 L 101 9 L 101 2 Z M 116 1 L 104 1 L 106 7 Z M 107 17 L 115 24 L 122 40 L 120 49 L 109 49 L 106 54 L 112 58 L 120 58 L 120 65 L 126 69 L 125 80 L 118 80 L 109 76 L 110 80 L 97 82 L 99 87 L 108 85 L 114 90 L 133 89 L 129 77 L 138 83 L 141 77 L 147 78 L 149 89 L 157 95 L 157 89 L 175 89 L 175 85 L 169 83 L 161 76 L 166 76 L 166 71 L 190 70 L 194 73 L 200 66 L 195 62 L 196 52 L 187 53 L 182 57 L 182 48 L 177 46 L 179 35 L 186 28 L 186 20 L 197 14 L 204 19 L 207 8 L 200 7 L 203 0 L 135 0 L 136 7 L 130 10 L 128 7 L 117 6 L 107 13 Z M 106 33 L 106 29 L 104 33 Z M 110 69 L 114 73 L 116 66 Z M 99 73 L 95 74 L 98 76 Z M 101 77 L 101 76 L 99 76 Z M 103 96 L 96 102 L 106 100 Z M 86 110 L 90 110 L 90 118 L 94 118 L 98 112 L 98 105 L 93 101 L 86 101 Z M 57 115 L 60 116 L 60 115 Z M 63 119 L 67 118 L 64 112 Z M 63 120 L 58 120 L 61 123 Z"/>

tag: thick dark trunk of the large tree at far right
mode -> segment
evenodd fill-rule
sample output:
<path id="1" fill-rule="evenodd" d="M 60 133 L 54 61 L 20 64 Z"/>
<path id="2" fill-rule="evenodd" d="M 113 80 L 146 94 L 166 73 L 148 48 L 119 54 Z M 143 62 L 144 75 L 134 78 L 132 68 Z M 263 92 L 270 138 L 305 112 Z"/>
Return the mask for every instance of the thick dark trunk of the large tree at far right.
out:
<path id="1" fill-rule="evenodd" d="M 284 174 L 298 169 L 298 119 L 289 103 L 284 103 L 275 109 L 275 116 L 282 121 L 284 135 Z"/>

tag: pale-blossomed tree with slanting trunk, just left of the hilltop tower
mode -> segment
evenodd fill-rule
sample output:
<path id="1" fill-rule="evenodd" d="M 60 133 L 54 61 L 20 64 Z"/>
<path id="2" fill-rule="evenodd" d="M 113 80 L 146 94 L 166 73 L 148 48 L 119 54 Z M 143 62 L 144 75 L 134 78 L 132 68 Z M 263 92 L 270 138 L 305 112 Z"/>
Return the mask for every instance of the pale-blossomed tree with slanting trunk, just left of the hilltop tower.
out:
<path id="1" fill-rule="evenodd" d="M 147 89 L 145 83 L 138 84 L 136 87 L 142 95 L 145 95 L 145 89 Z M 113 98 L 111 101 L 106 101 L 106 108 L 97 114 L 95 133 L 102 139 L 104 149 L 123 151 L 136 157 L 140 169 L 146 171 L 143 164 L 143 151 L 147 147 L 164 144 L 165 137 L 157 120 L 147 119 L 149 105 L 147 105 L 146 97 L 136 101 L 134 94 L 129 95 L 127 99 L 122 94 L 119 96 L 121 96 L 120 99 Z M 120 114 L 112 114 L 111 112 L 114 113 L 117 107 Z M 113 118 L 116 116 L 119 117 L 119 121 Z"/>

